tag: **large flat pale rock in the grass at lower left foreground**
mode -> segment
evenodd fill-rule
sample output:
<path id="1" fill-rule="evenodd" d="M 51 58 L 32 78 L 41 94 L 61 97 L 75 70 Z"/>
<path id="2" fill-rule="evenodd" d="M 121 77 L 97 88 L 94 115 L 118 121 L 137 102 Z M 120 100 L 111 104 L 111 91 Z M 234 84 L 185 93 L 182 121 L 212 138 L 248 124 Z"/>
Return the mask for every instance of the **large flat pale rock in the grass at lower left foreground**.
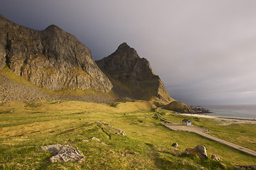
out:
<path id="1" fill-rule="evenodd" d="M 72 147 L 71 145 L 48 145 L 45 147 L 39 147 L 43 151 L 50 151 L 54 154 L 50 157 L 50 162 L 82 162 L 85 157 L 78 148 Z"/>

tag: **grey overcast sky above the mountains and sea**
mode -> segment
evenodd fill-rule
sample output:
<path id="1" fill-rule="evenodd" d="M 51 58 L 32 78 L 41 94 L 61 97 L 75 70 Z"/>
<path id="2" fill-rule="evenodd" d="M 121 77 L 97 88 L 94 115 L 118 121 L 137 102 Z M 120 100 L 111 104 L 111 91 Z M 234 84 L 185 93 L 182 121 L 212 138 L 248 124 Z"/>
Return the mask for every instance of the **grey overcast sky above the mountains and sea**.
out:
<path id="1" fill-rule="evenodd" d="M 256 104 L 255 0 L 1 0 L 0 13 L 36 30 L 54 24 L 95 60 L 127 42 L 178 101 Z"/>

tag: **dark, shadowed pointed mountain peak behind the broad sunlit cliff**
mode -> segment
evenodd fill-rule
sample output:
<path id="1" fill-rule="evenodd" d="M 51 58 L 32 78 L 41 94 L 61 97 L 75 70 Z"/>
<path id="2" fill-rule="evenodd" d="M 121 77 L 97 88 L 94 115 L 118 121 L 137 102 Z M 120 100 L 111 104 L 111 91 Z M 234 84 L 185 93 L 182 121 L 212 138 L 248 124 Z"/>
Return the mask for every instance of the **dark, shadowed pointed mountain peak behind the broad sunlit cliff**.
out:
<path id="1" fill-rule="evenodd" d="M 112 55 L 96 61 L 110 78 L 113 91 L 119 96 L 135 99 L 156 99 L 169 103 L 173 101 L 163 82 L 156 76 L 145 58 L 140 58 L 127 43 L 119 45 Z"/>

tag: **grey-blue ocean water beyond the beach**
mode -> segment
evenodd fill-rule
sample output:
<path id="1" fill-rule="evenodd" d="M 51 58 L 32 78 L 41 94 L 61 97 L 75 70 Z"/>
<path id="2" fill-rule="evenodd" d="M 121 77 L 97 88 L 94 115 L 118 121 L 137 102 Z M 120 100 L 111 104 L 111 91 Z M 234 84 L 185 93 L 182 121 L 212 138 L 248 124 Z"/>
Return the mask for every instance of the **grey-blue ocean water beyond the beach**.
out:
<path id="1" fill-rule="evenodd" d="M 256 105 L 223 105 L 223 106 L 203 106 L 213 113 L 204 113 L 224 118 L 242 118 L 256 120 Z"/>

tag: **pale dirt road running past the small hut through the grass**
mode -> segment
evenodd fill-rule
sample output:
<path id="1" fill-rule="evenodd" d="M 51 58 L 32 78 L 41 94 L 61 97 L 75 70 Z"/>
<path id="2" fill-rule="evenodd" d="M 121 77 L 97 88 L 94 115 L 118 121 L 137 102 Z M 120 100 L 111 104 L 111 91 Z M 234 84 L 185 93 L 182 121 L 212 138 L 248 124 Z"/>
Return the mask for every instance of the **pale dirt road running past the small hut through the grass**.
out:
<path id="1" fill-rule="evenodd" d="M 242 152 L 245 152 L 247 154 L 250 154 L 250 155 L 256 157 L 256 152 L 254 150 L 248 149 L 246 147 L 242 147 L 240 145 L 233 144 L 233 143 L 225 141 L 225 140 L 220 140 L 217 137 L 210 136 L 210 135 L 207 134 L 208 130 L 206 130 L 204 128 L 198 128 L 196 126 L 186 126 L 186 125 L 178 124 L 178 123 L 171 123 L 171 121 L 162 118 L 161 115 L 159 115 L 159 113 L 157 112 L 157 110 L 158 110 L 158 108 L 156 108 L 156 115 L 161 120 L 164 120 L 165 122 L 168 122 L 168 123 L 161 123 L 161 125 L 164 125 L 166 128 L 169 128 L 169 130 L 182 131 L 182 132 L 193 132 L 193 133 L 196 133 L 198 135 L 201 135 L 202 137 L 206 137 L 209 140 L 219 142 L 220 144 L 223 144 L 223 145 L 228 145 L 229 147 L 233 147 L 234 149 L 238 149 Z"/>

